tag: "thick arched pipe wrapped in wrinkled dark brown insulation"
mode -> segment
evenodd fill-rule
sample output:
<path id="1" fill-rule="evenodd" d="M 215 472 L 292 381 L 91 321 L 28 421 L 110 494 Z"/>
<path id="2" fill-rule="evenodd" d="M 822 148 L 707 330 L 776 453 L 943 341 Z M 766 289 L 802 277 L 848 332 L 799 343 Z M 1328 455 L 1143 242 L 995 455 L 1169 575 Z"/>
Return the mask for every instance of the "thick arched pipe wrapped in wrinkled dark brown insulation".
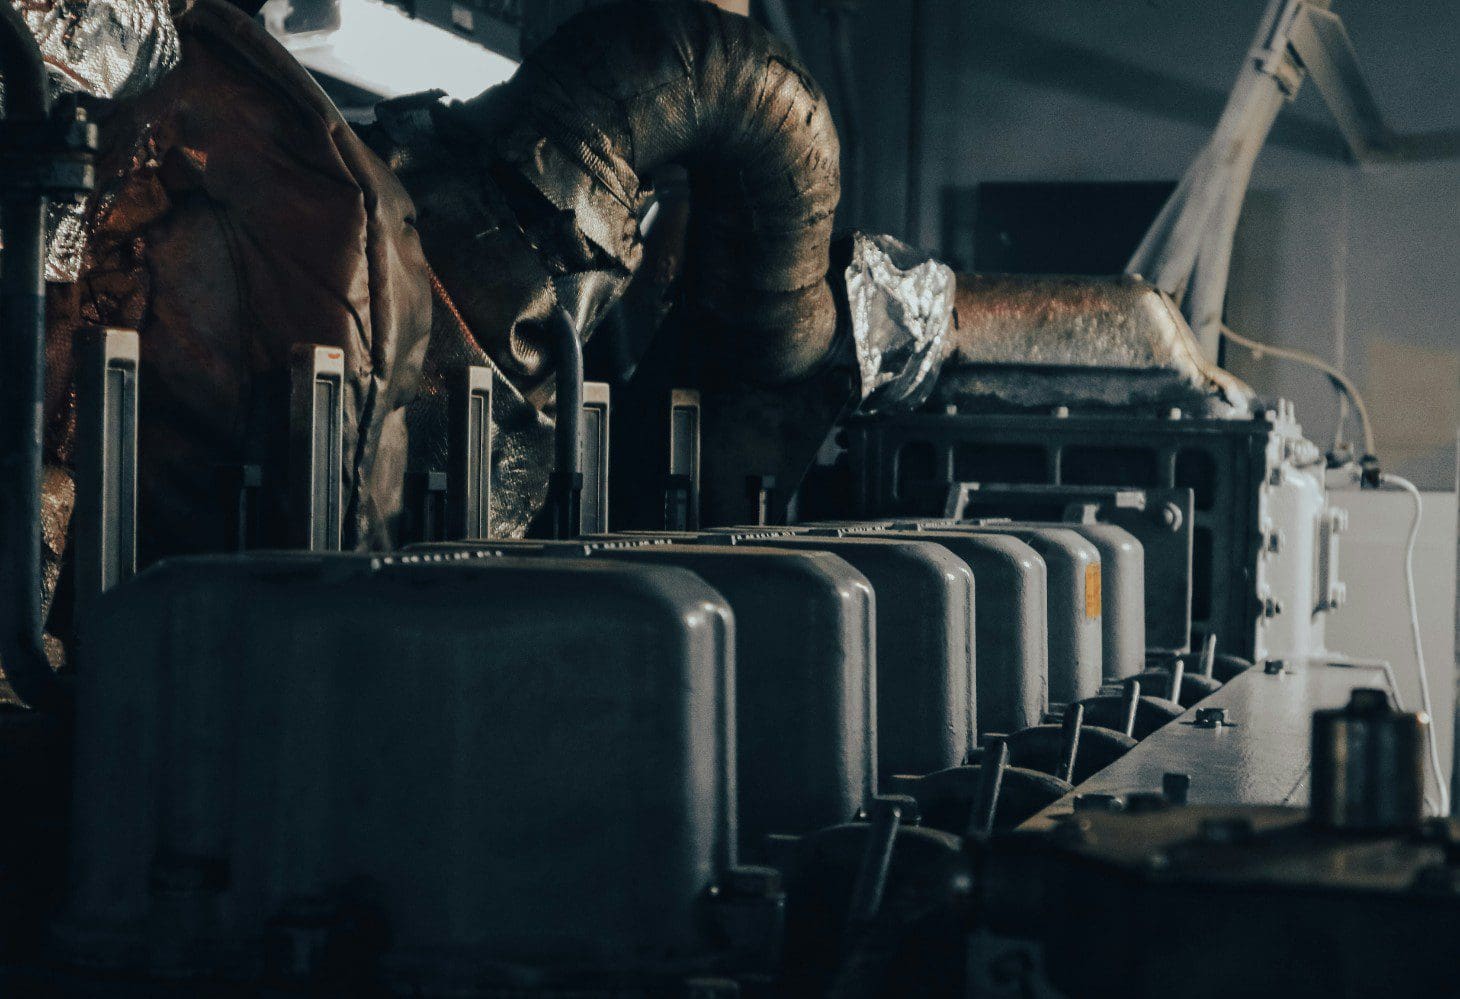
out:
<path id="1" fill-rule="evenodd" d="M 593 7 L 534 50 L 504 88 L 435 118 L 501 187 L 558 301 L 568 288 L 580 301 L 584 289 L 618 296 L 642 260 L 647 178 L 680 164 L 691 181 L 694 327 L 753 381 L 802 378 L 831 352 L 837 131 L 810 74 L 749 18 L 688 1 Z M 425 172 L 422 181 L 439 184 Z M 483 270 L 504 269 L 489 244 L 461 245 L 457 232 L 480 228 L 457 222 L 458 203 L 422 213 L 426 253 L 488 352 L 533 378 L 545 372 L 548 349 L 529 349 L 518 326 L 502 327 L 499 302 L 476 292 Z M 523 299 L 512 321 L 526 324 L 537 302 Z"/>

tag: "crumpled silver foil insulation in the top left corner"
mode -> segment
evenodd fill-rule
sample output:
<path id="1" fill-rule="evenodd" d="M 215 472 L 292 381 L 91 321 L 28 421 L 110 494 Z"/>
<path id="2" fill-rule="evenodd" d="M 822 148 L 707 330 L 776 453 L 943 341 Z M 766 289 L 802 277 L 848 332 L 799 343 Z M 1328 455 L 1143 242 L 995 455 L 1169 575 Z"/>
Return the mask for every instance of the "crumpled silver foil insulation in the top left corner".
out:
<path id="1" fill-rule="evenodd" d="M 126 99 L 177 66 L 182 48 L 165 0 L 12 0 L 41 47 L 51 95 Z M 3 95 L 0 83 L 0 95 Z M 86 202 L 57 202 L 47 216 L 45 279 L 73 282 L 86 248 Z"/>

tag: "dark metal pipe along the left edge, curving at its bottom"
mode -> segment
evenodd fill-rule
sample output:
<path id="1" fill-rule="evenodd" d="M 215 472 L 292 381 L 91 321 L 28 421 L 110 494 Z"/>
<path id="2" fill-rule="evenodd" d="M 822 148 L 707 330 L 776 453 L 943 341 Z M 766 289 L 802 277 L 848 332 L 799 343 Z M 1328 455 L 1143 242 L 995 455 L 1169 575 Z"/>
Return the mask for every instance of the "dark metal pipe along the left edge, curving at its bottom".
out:
<path id="1" fill-rule="evenodd" d="M 0 3 L 6 121 L 50 115 L 45 64 L 25 20 Z M 10 150 L 12 155 L 15 150 Z M 45 194 L 3 184 L 0 223 L 0 667 L 38 710 L 64 710 L 70 688 L 45 654 L 41 586 L 41 447 L 45 378 Z"/>

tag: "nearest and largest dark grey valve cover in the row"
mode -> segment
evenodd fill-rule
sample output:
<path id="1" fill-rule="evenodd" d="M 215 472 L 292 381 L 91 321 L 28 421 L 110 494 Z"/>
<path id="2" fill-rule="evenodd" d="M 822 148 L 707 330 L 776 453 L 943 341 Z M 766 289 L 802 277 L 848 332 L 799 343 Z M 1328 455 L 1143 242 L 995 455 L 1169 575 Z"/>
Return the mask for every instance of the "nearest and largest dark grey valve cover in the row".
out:
<path id="1" fill-rule="evenodd" d="M 253 977 L 366 906 L 412 995 L 701 960 L 733 631 L 667 564 L 162 562 L 83 635 L 61 951 Z"/>

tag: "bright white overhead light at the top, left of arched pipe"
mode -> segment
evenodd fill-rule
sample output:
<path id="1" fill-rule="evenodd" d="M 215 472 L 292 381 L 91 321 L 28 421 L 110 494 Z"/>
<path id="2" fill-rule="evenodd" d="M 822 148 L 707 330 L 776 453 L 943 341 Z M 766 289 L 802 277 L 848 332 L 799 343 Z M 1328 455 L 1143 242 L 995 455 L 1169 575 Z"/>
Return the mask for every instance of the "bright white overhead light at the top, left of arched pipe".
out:
<path id="1" fill-rule="evenodd" d="M 289 34 L 289 0 L 269 0 L 269 32 L 307 69 L 383 98 L 445 91 L 472 98 L 517 72 L 517 61 L 375 0 L 339 0 L 340 26 Z"/>

